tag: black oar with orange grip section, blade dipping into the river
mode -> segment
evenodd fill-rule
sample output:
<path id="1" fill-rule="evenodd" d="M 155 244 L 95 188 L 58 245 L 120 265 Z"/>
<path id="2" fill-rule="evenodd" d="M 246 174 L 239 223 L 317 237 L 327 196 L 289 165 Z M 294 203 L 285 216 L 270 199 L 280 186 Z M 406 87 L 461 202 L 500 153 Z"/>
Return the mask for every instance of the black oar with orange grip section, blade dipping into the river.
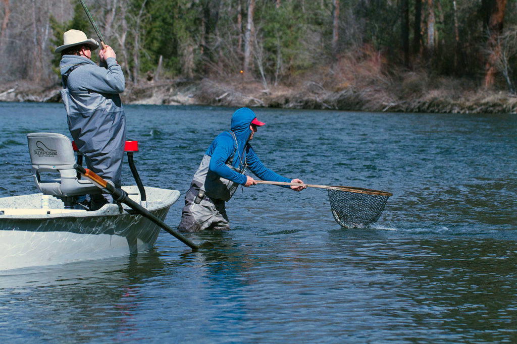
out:
<path id="1" fill-rule="evenodd" d="M 123 202 L 124 204 L 128 205 L 131 209 L 134 211 L 140 213 L 142 216 L 147 217 L 150 221 L 153 221 L 155 224 L 163 228 L 165 231 L 171 233 L 173 236 L 175 236 L 177 239 L 179 239 L 184 244 L 188 245 L 190 248 L 192 248 L 194 251 L 200 248 L 209 248 L 214 247 L 214 244 L 211 242 L 204 240 L 200 244 L 195 244 L 192 241 L 185 238 L 183 235 L 181 235 L 176 230 L 169 227 L 167 224 L 165 224 L 163 221 L 161 221 L 158 217 L 156 217 L 154 214 L 150 213 L 147 209 L 136 203 L 134 200 L 129 198 L 129 195 L 127 192 L 125 192 L 122 189 L 118 189 L 118 187 L 113 186 L 113 184 L 108 183 L 106 180 L 102 179 L 89 169 L 84 168 L 81 165 L 75 164 L 74 168 L 79 171 L 79 173 L 89 180 L 91 180 L 95 185 L 100 187 L 100 189 L 108 191 L 112 196 L 113 199 L 117 202 Z"/>

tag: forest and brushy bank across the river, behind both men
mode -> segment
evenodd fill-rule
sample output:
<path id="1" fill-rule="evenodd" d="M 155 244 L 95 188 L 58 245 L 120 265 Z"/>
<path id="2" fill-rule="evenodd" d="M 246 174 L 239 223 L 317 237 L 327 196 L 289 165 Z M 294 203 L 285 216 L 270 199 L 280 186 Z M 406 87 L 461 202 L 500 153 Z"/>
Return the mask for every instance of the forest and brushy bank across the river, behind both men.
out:
<path id="1" fill-rule="evenodd" d="M 517 111 L 517 0 L 84 2 L 126 103 Z M 98 40 L 79 0 L 0 0 L 0 20 L 0 100 L 59 101 L 63 33 Z"/>

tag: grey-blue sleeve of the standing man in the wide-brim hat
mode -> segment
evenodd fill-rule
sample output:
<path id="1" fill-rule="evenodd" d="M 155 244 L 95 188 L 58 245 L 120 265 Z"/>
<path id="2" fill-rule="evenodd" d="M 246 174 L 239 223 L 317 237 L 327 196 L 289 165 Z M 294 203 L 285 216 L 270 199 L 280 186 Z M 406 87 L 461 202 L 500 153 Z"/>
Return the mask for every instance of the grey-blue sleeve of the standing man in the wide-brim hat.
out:
<path id="1" fill-rule="evenodd" d="M 126 79 L 122 69 L 115 61 L 115 58 L 108 58 L 105 66 L 107 66 L 107 68 L 96 65 L 79 67 L 77 71 L 70 73 L 70 77 L 68 78 L 68 87 L 72 92 L 123 92 L 126 87 Z"/>

